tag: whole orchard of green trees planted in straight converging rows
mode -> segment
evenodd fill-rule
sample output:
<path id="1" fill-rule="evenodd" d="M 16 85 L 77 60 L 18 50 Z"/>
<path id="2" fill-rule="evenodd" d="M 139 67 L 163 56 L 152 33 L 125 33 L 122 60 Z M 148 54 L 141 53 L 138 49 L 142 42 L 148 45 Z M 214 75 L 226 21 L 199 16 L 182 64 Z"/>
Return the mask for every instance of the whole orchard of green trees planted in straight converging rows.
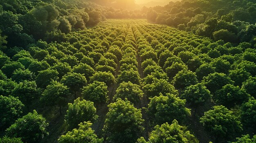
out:
<path id="1" fill-rule="evenodd" d="M 162 130 L 177 130 L 177 138 L 196 143 L 198 131 L 192 130 L 194 136 L 184 128 L 194 112 L 218 142 L 234 141 L 242 129 L 254 132 L 256 60 L 251 44 L 213 42 L 145 20 L 107 20 L 65 36 L 66 42 L 39 40 L 1 52 L 2 136 L 47 141 L 53 136 L 47 128 L 52 120 L 43 110 L 64 113 L 60 119 L 67 128 L 57 128 L 65 134 L 54 136 L 60 136 L 59 142 L 145 142 L 139 137 L 146 127 L 152 143 L 175 138 Z M 112 98 L 108 87 L 113 84 Z M 148 118 L 135 108 L 141 107 L 142 97 Z M 104 104 L 109 104 L 108 113 L 98 137 L 90 126 Z M 196 110 L 205 104 L 216 106 L 202 116 Z M 29 121 L 35 120 L 31 126 Z"/>

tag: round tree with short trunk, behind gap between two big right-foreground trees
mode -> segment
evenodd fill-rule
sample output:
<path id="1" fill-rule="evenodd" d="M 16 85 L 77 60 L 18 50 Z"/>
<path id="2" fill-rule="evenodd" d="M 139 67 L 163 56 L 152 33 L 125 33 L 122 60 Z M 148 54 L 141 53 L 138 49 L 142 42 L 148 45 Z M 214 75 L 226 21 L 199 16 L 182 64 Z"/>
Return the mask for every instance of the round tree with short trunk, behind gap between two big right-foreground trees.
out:
<path id="1" fill-rule="evenodd" d="M 181 95 L 182 99 L 186 99 L 196 109 L 198 106 L 204 105 L 211 99 L 210 91 L 201 83 L 186 87 Z"/>

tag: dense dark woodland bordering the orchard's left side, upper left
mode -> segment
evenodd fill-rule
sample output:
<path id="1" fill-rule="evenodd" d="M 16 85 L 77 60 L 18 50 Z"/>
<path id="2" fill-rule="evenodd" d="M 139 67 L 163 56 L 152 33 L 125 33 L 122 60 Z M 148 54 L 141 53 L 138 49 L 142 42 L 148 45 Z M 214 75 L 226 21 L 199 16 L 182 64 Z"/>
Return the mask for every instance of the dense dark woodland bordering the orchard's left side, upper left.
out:
<path id="1" fill-rule="evenodd" d="M 95 26 L 104 20 L 101 9 L 92 7 L 95 5 L 84 1 L 1 0 L 1 48 L 4 52 L 6 46 L 20 49 L 39 39 L 54 42 L 71 31 Z"/>

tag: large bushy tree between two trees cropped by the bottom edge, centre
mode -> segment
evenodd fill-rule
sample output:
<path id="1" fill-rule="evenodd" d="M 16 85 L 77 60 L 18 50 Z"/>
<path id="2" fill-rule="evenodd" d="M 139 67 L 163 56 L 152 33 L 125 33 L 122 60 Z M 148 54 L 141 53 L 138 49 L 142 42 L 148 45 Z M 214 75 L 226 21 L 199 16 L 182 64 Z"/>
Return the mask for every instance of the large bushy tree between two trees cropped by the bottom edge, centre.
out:
<path id="1" fill-rule="evenodd" d="M 121 99 L 110 103 L 108 108 L 103 128 L 108 136 L 107 140 L 115 143 L 134 143 L 143 130 L 141 109 L 135 108 L 130 101 Z"/>

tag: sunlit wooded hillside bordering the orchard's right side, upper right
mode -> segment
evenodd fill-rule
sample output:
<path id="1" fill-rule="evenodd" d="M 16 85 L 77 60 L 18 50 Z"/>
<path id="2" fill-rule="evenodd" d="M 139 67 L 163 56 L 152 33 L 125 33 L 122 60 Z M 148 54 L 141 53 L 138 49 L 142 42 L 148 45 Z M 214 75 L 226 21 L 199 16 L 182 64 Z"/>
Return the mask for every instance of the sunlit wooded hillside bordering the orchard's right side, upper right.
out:
<path id="1" fill-rule="evenodd" d="M 147 19 L 225 42 L 256 43 L 256 3 L 252 0 L 182 0 L 153 7 Z"/>

